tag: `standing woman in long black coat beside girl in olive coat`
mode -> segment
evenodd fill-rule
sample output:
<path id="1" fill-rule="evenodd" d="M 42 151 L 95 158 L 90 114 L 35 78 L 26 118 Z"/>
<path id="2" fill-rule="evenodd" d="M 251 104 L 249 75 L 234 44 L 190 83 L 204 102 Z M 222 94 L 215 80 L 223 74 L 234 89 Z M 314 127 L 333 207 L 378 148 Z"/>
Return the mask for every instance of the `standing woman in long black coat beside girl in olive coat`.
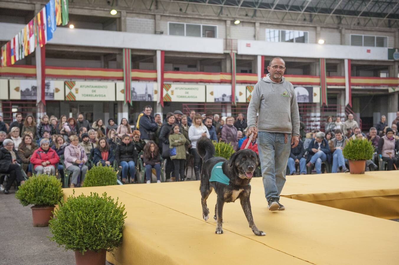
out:
<path id="1" fill-rule="evenodd" d="M 169 152 L 169 133 L 172 129 L 172 125 L 175 122 L 175 117 L 172 112 L 166 114 L 166 123 L 162 125 L 161 131 L 159 133 L 159 142 L 162 144 L 162 158 L 166 160 L 165 172 L 166 172 L 166 182 L 172 181 L 170 179 L 170 174 L 174 171 L 174 164 L 170 159 Z"/>

